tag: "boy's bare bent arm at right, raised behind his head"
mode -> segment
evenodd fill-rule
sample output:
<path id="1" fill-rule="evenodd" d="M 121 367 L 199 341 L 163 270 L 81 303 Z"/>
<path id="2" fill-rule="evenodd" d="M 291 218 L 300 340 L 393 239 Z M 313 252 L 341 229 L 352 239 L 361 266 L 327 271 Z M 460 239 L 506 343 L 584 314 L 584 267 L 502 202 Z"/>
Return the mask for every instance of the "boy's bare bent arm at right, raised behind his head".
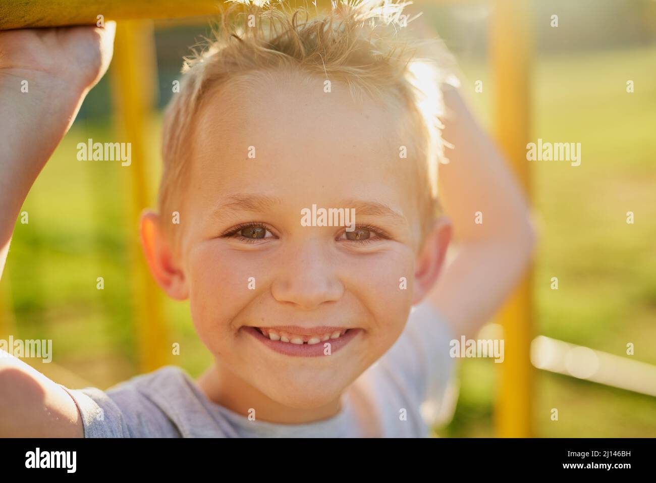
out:
<path id="1" fill-rule="evenodd" d="M 453 144 L 440 165 L 440 198 L 459 250 L 428 295 L 457 335 L 473 337 L 497 312 L 531 259 L 529 208 L 506 163 L 457 90 L 445 87 L 443 137 Z M 474 223 L 474 213 L 483 223 Z"/>

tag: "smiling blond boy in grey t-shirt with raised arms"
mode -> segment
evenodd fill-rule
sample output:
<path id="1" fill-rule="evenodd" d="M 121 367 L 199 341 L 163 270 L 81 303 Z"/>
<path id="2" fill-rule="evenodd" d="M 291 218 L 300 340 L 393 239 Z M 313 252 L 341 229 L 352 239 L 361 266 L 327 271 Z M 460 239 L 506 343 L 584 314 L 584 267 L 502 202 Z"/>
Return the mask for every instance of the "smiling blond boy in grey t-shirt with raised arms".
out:
<path id="1" fill-rule="evenodd" d="M 0 362 L 0 435 L 428 434 L 420 410 L 443 400 L 455 338 L 430 306 L 418 305 L 451 238 L 450 222 L 438 216 L 436 184 L 445 58 L 436 58 L 438 68 L 419 62 L 413 44 L 396 36 L 403 4 L 339 4 L 307 21 L 247 1 L 230 11 L 242 7 L 243 29 L 231 37 L 228 12 L 216 43 L 187 65 L 165 117 L 159 210 L 145 213 L 141 226 L 155 280 L 174 299 L 190 300 L 215 364 L 197 381 L 167 366 L 102 392 L 68 389 L 20 361 Z M 6 213 L 16 219 L 104 72 L 111 30 L 0 35 L 0 92 L 9 111 L 31 114 L 7 94 L 19 77 L 62 93 L 30 101 L 49 114 L 26 119 L 43 136 L 30 147 L 19 132 L 3 157 L 5 257 Z M 89 58 L 62 72 L 58 59 L 75 55 Z M 66 122 L 54 123 L 62 114 Z M 478 149 L 495 156 L 480 131 L 459 129 L 468 130 L 454 140 L 476 135 Z M 497 179 L 508 194 L 499 205 L 505 211 L 485 202 L 492 224 L 513 240 L 529 239 L 516 187 L 504 174 Z M 483 186 L 480 192 L 489 194 Z M 179 224 L 171 222 L 174 213 Z M 354 220 L 327 213 L 354 213 Z M 458 335 L 493 312 L 530 251 L 530 242 L 495 242 L 488 251 L 478 243 L 476 252 L 464 243 L 468 261 L 453 263 L 450 286 L 430 294 Z M 471 309 L 463 295 L 467 263 L 483 254 L 499 255 L 508 273 L 495 273 L 501 293 L 487 290 Z M 496 272 L 494 263 L 484 266 Z"/>

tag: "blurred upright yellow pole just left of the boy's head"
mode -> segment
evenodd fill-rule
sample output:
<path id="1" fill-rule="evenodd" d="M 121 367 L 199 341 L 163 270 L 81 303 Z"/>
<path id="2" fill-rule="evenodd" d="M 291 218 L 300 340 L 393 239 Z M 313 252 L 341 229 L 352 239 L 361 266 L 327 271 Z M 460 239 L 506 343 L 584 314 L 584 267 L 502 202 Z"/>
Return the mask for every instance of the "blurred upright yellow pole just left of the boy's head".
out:
<path id="1" fill-rule="evenodd" d="M 131 164 L 121 166 L 130 193 L 127 223 L 133 282 L 134 325 L 137 332 L 140 372 L 150 372 L 168 362 L 167 329 L 161 292 L 155 284 L 138 238 L 138 220 L 150 204 L 148 162 L 157 155 L 152 146 L 152 100 L 155 86 L 155 47 L 150 21 L 118 22 L 112 60 L 112 81 L 120 142 L 131 142 Z M 158 144 L 155 143 L 155 146 Z"/>

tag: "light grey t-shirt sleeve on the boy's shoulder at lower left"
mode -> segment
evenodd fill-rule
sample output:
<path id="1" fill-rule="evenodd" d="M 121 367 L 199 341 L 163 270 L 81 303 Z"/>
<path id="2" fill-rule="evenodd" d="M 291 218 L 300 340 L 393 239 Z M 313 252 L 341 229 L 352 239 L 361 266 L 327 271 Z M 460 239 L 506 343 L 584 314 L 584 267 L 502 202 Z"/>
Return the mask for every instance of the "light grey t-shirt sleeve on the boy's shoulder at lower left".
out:
<path id="1" fill-rule="evenodd" d="M 68 389 L 82 418 L 85 438 L 179 437 L 174 425 L 136 387 L 123 385 L 111 397 L 95 387 Z"/>

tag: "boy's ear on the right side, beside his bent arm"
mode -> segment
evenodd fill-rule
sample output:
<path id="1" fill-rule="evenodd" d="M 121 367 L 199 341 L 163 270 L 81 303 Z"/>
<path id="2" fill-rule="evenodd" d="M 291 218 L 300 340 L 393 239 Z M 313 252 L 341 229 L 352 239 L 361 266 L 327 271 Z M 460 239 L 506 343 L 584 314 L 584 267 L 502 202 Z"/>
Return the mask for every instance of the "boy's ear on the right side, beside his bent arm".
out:
<path id="1" fill-rule="evenodd" d="M 452 234 L 453 226 L 447 217 L 437 219 L 426 234 L 415 264 L 413 305 L 419 303 L 438 280 Z"/>

